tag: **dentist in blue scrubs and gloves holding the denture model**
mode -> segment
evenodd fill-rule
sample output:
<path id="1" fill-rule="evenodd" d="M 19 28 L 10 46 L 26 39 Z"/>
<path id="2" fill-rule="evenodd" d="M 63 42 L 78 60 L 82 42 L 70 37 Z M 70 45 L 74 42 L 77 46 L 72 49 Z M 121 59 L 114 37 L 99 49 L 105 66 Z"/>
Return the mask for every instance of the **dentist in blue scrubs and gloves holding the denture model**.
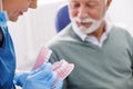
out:
<path id="1" fill-rule="evenodd" d="M 0 89 L 16 89 L 14 85 L 18 82 L 22 83 L 22 89 L 61 89 L 62 81 L 53 88 L 57 72 L 52 71 L 50 63 L 18 76 L 13 83 L 16 52 L 7 21 L 17 21 L 29 8 L 35 9 L 37 0 L 0 0 Z"/>

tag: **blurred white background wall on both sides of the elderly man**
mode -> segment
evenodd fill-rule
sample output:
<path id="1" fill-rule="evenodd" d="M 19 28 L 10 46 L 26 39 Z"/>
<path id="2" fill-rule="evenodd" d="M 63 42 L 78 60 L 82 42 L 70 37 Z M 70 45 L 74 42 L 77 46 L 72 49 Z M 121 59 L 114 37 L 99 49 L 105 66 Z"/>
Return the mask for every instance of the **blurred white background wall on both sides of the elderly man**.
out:
<path id="1" fill-rule="evenodd" d="M 17 22 L 9 22 L 16 53 L 17 69 L 31 70 L 40 47 L 57 34 L 54 19 L 57 10 L 66 0 L 38 0 L 38 9 L 29 10 Z M 113 0 L 109 18 L 127 28 L 133 34 L 133 0 Z"/>

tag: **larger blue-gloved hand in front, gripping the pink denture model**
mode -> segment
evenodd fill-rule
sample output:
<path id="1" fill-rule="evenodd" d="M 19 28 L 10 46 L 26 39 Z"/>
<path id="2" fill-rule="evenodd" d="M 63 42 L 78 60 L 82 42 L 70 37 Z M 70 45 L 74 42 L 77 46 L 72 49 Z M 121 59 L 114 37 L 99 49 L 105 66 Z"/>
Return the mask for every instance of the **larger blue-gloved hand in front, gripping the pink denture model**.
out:
<path id="1" fill-rule="evenodd" d="M 52 89 L 58 76 L 55 71 L 52 71 L 51 67 L 51 63 L 45 63 L 32 71 L 27 77 L 22 89 Z M 61 87 L 62 82 L 53 89 L 60 89 Z"/>

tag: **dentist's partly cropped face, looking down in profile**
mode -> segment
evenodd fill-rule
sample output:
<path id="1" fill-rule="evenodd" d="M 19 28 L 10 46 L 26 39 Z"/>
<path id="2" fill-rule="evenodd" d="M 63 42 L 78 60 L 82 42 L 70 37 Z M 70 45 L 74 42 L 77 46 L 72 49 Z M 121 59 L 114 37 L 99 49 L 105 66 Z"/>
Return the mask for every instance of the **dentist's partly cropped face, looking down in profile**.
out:
<path id="1" fill-rule="evenodd" d="M 9 20 L 17 21 L 29 8 L 37 8 L 37 0 L 3 0 L 3 10 L 8 12 Z"/>

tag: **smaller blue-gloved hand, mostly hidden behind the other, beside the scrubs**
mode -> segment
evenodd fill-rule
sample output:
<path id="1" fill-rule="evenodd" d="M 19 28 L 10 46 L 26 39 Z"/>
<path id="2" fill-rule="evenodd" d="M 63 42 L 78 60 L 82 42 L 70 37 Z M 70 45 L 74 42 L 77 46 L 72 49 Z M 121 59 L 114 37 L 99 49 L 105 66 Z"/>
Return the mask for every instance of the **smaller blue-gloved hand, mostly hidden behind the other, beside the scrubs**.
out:
<path id="1" fill-rule="evenodd" d="M 13 83 L 17 86 L 22 87 L 25 82 L 27 77 L 29 76 L 29 71 L 24 71 L 24 72 L 19 72 L 14 76 L 13 78 Z"/>

